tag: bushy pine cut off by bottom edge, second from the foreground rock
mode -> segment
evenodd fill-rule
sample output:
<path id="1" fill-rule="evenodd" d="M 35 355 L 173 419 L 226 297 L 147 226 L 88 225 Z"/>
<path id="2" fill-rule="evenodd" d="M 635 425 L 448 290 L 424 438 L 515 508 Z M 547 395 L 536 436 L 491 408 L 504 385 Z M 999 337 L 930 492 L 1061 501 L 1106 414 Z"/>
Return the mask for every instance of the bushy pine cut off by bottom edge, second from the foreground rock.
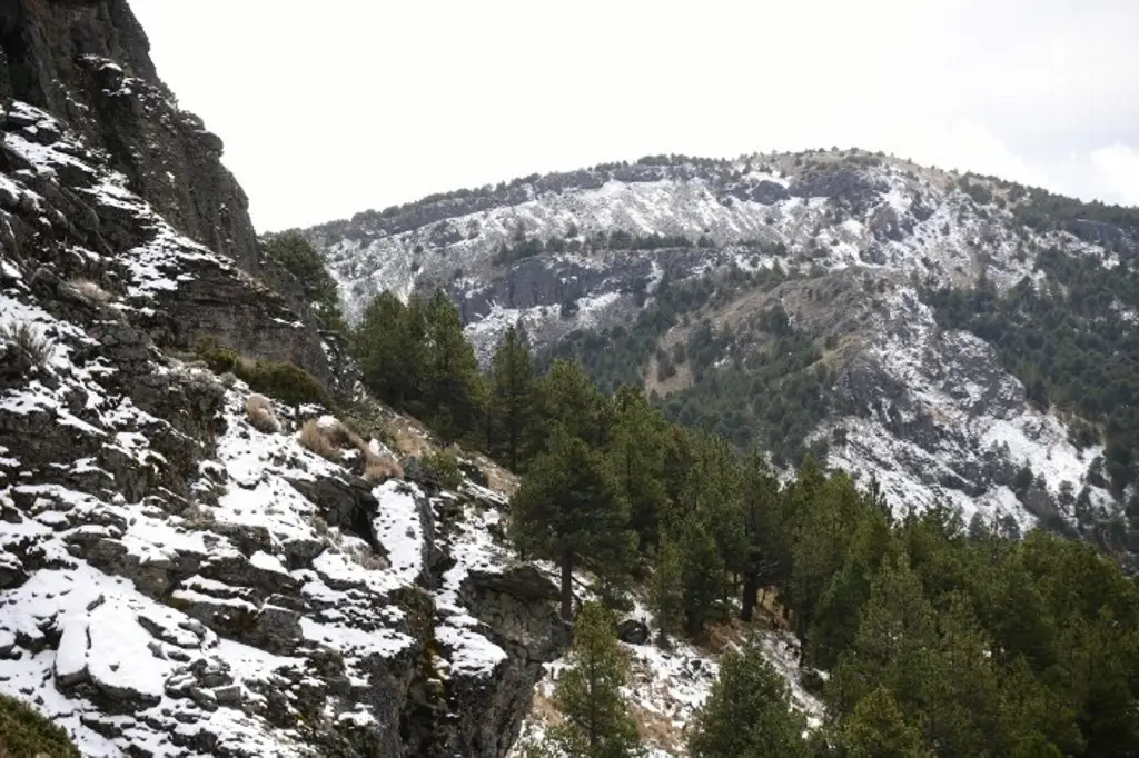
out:
<path id="1" fill-rule="evenodd" d="M 809 756 L 802 716 L 790 709 L 782 676 L 754 645 L 720 661 L 720 677 L 689 725 L 693 758 Z"/>

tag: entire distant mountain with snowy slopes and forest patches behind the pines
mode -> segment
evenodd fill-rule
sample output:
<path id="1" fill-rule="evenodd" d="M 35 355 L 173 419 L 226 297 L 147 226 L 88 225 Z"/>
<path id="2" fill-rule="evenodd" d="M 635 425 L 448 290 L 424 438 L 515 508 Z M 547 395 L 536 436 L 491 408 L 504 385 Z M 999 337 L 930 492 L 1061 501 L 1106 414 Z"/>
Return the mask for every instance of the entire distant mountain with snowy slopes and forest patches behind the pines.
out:
<path id="1" fill-rule="evenodd" d="M 899 504 L 1130 546 L 1139 209 L 831 150 L 648 157 L 304 233 L 350 319 L 443 287 L 484 357 L 522 323 L 777 463 L 812 447 Z"/>

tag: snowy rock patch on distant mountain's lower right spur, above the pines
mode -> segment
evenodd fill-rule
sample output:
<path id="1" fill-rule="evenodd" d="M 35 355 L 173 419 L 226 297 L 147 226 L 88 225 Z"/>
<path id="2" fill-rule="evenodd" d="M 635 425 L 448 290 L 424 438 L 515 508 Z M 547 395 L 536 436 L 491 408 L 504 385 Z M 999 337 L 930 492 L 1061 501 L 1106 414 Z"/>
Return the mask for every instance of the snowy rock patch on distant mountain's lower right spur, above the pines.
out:
<path id="1" fill-rule="evenodd" d="M 899 511 L 947 502 L 960 509 L 966 521 L 977 512 L 990 521 L 1011 516 L 1023 528 L 1034 525 L 1035 518 L 1007 487 L 977 494 L 968 486 L 942 483 L 968 481 L 970 470 L 986 469 L 985 456 L 1015 468 L 1030 464 L 1052 495 L 1065 481 L 1076 491 L 1087 483 L 1091 461 L 1103 448 L 1076 450 L 1063 421 L 1029 406 L 1023 386 L 999 368 L 990 345 L 967 332 L 942 332 L 910 288 L 900 287 L 884 300 L 887 315 L 880 343 L 869 355 L 906 388 L 899 398 L 906 410 L 895 402 L 890 411 L 893 421 L 877 414 L 842 419 L 820 429 L 819 437 L 829 436 L 835 427 L 846 431 L 846 443 L 830 447 L 830 465 L 863 481 L 876 479 Z M 992 366 L 984 369 L 986 387 L 957 380 L 974 376 L 977 366 Z M 898 421 L 921 423 L 921 419 L 941 430 L 940 447 L 891 430 Z"/>

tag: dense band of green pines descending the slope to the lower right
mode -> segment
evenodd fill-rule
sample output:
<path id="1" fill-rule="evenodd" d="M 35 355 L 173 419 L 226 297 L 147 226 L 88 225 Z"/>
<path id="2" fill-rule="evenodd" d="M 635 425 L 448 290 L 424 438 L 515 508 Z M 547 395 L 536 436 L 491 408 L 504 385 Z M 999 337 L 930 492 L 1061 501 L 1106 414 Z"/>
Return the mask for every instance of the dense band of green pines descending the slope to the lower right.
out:
<path id="1" fill-rule="evenodd" d="M 354 343 L 383 399 L 523 475 L 508 533 L 560 568 L 562 613 L 589 629 L 579 665 L 612 662 L 616 643 L 612 616 L 574 613 L 574 572 L 613 609 L 647 590 L 662 644 L 751 620 L 760 590 L 778 592 L 802 666 L 826 673 L 826 723 L 804 739 L 753 645 L 724 659 L 689 725 L 694 756 L 1139 755 L 1139 587 L 1093 546 L 966 528 L 947 506 L 899 517 L 811 455 L 781 477 L 761 451 L 670 422 L 639 387 L 605 394 L 565 360 L 539 376 L 517 329 L 484 374 L 442 294 L 379 296 Z M 559 702 L 596 715 L 622 677 L 591 666 Z M 637 755 L 626 719 L 567 724 L 564 755 Z"/>

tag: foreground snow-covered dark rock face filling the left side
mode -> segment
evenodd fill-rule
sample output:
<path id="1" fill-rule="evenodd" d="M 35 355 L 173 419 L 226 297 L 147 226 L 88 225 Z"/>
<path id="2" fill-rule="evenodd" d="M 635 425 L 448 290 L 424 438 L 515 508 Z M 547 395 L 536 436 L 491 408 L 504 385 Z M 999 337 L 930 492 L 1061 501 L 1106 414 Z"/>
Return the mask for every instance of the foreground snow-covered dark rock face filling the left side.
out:
<path id="1" fill-rule="evenodd" d="M 186 354 L 351 377 L 125 2 L 6 3 L 0 43 L 0 692 L 92 756 L 503 756 L 565 643 L 503 499 L 366 483 L 300 444 L 326 409 L 261 431 Z"/>

